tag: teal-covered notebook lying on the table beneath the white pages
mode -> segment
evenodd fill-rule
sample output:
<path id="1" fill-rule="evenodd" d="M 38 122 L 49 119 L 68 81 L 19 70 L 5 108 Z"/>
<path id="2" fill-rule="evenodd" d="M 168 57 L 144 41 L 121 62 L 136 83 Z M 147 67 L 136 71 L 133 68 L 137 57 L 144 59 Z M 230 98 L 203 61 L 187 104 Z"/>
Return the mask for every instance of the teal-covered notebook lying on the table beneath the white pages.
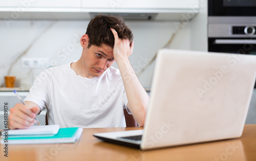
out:
<path id="1" fill-rule="evenodd" d="M 82 133 L 81 127 L 60 128 L 53 136 L 9 136 L 8 143 L 1 140 L 2 144 L 54 144 L 54 143 L 74 143 Z M 6 141 L 6 140 L 5 140 Z M 4 143 L 3 143 L 4 142 Z"/>

